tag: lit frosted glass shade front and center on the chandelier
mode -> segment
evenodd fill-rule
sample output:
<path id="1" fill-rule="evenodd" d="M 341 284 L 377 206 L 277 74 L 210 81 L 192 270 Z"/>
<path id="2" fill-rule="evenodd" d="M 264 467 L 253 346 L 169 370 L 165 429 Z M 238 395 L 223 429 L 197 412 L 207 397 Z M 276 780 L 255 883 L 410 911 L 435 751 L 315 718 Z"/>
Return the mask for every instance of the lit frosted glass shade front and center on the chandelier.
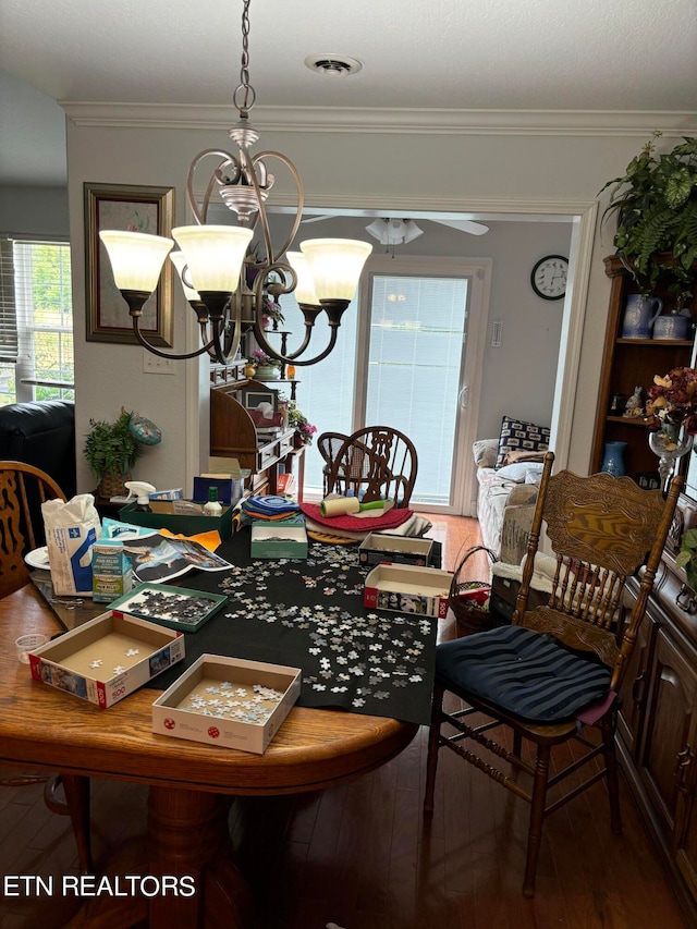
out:
<path id="1" fill-rule="evenodd" d="M 234 293 L 252 230 L 241 225 L 180 225 L 172 230 L 193 289 Z"/>

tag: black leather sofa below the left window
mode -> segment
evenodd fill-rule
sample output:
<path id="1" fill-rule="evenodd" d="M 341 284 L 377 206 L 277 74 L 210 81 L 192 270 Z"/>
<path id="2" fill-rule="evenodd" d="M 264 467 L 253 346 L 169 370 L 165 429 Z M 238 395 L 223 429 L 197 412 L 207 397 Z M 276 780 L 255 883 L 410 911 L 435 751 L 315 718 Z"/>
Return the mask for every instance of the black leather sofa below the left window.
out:
<path id="1" fill-rule="evenodd" d="M 34 465 L 50 475 L 69 500 L 74 497 L 74 404 L 37 400 L 0 406 L 0 461 Z"/>

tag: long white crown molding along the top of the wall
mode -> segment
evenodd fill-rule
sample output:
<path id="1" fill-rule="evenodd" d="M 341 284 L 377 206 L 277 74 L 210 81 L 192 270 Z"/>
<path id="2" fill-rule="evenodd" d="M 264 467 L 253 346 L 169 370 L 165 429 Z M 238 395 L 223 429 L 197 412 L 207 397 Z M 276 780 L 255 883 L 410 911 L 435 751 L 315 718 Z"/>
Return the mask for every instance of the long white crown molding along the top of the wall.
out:
<path id="1" fill-rule="evenodd" d="M 231 106 L 91 103 L 62 100 L 80 126 L 228 130 Z M 640 136 L 697 134 L 697 111 L 453 110 L 358 107 L 255 107 L 254 126 L 272 132 L 401 133 L 406 135 Z"/>

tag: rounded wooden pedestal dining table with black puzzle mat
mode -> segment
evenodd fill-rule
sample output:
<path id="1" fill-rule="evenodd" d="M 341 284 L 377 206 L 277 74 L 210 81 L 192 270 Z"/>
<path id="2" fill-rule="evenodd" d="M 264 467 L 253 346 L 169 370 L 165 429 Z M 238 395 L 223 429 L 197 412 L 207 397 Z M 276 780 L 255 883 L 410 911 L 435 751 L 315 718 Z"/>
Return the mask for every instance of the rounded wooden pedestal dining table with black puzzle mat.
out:
<path id="1" fill-rule="evenodd" d="M 229 597 L 229 606 L 204 626 L 209 645 L 197 643 L 198 632 L 186 636 L 189 661 L 201 648 L 212 647 L 243 658 L 292 658 L 283 663 L 297 662 L 303 669 L 301 699 L 264 754 L 154 733 L 151 706 L 168 685 L 166 679 L 154 679 L 108 709 L 33 680 L 28 665 L 17 660 L 15 639 L 34 632 L 53 637 L 64 627 L 34 584 L 0 600 L 0 760 L 60 771 L 66 791 L 75 795 L 89 778 L 148 785 L 144 875 L 183 879 L 180 889 L 195 888 L 188 895 L 93 897 L 86 904 L 89 922 L 76 925 L 254 926 L 250 892 L 232 855 L 231 798 L 314 792 L 359 778 L 399 755 L 428 721 L 424 712 L 430 700 L 437 621 L 367 611 L 357 589 L 364 575 L 355 548 L 354 564 L 347 551 L 333 553 L 318 545 L 310 546 L 307 561 L 256 562 L 244 534 L 237 534 L 227 550 L 231 562 L 239 562 L 230 571 L 185 578 L 188 586 L 198 579 L 199 587 Z M 331 583 L 339 575 L 347 585 L 344 590 Z M 305 606 L 294 602 L 298 599 Z M 235 640 L 237 628 L 244 634 Z M 360 628 L 365 635 L 358 653 Z M 342 634 L 347 638 L 342 640 Z M 331 684 L 347 676 L 346 649 L 356 680 L 347 688 L 335 687 L 341 693 L 334 695 L 331 686 L 316 689 L 313 682 Z M 412 651 L 416 658 L 408 657 Z M 383 655 L 382 663 L 370 663 L 376 652 Z M 402 659 L 416 664 L 401 673 L 406 667 Z M 409 688 L 416 695 L 412 700 Z"/>

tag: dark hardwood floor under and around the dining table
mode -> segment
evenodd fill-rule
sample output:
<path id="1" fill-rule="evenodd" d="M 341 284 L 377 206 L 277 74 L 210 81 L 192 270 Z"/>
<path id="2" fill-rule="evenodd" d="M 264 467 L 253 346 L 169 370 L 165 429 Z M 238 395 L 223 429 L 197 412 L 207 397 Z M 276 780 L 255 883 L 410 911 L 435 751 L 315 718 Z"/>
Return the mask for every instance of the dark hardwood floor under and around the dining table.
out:
<path id="1" fill-rule="evenodd" d="M 435 517 L 443 566 L 478 541 L 474 519 Z M 486 576 L 486 555 L 473 571 Z M 443 623 L 441 635 L 454 634 Z M 436 809 L 421 814 L 424 728 L 389 765 L 316 794 L 240 798 L 230 814 L 241 870 L 260 929 L 688 929 L 622 781 L 622 835 L 613 835 L 602 784 L 551 816 L 533 901 L 521 894 L 528 808 L 452 753 L 441 753 Z M 2 875 L 76 873 L 65 817 L 41 787 L 0 791 Z M 93 782 L 98 868 L 142 843 L 146 789 Z M 269 892 L 269 888 L 273 892 Z M 61 929 L 78 902 L 4 897 L 1 929 Z M 124 929 L 113 926 L 112 929 Z M 173 926 L 172 929 L 179 929 Z M 182 927 L 185 929 L 185 927 Z M 223 929 L 223 927 L 221 927 Z"/>

